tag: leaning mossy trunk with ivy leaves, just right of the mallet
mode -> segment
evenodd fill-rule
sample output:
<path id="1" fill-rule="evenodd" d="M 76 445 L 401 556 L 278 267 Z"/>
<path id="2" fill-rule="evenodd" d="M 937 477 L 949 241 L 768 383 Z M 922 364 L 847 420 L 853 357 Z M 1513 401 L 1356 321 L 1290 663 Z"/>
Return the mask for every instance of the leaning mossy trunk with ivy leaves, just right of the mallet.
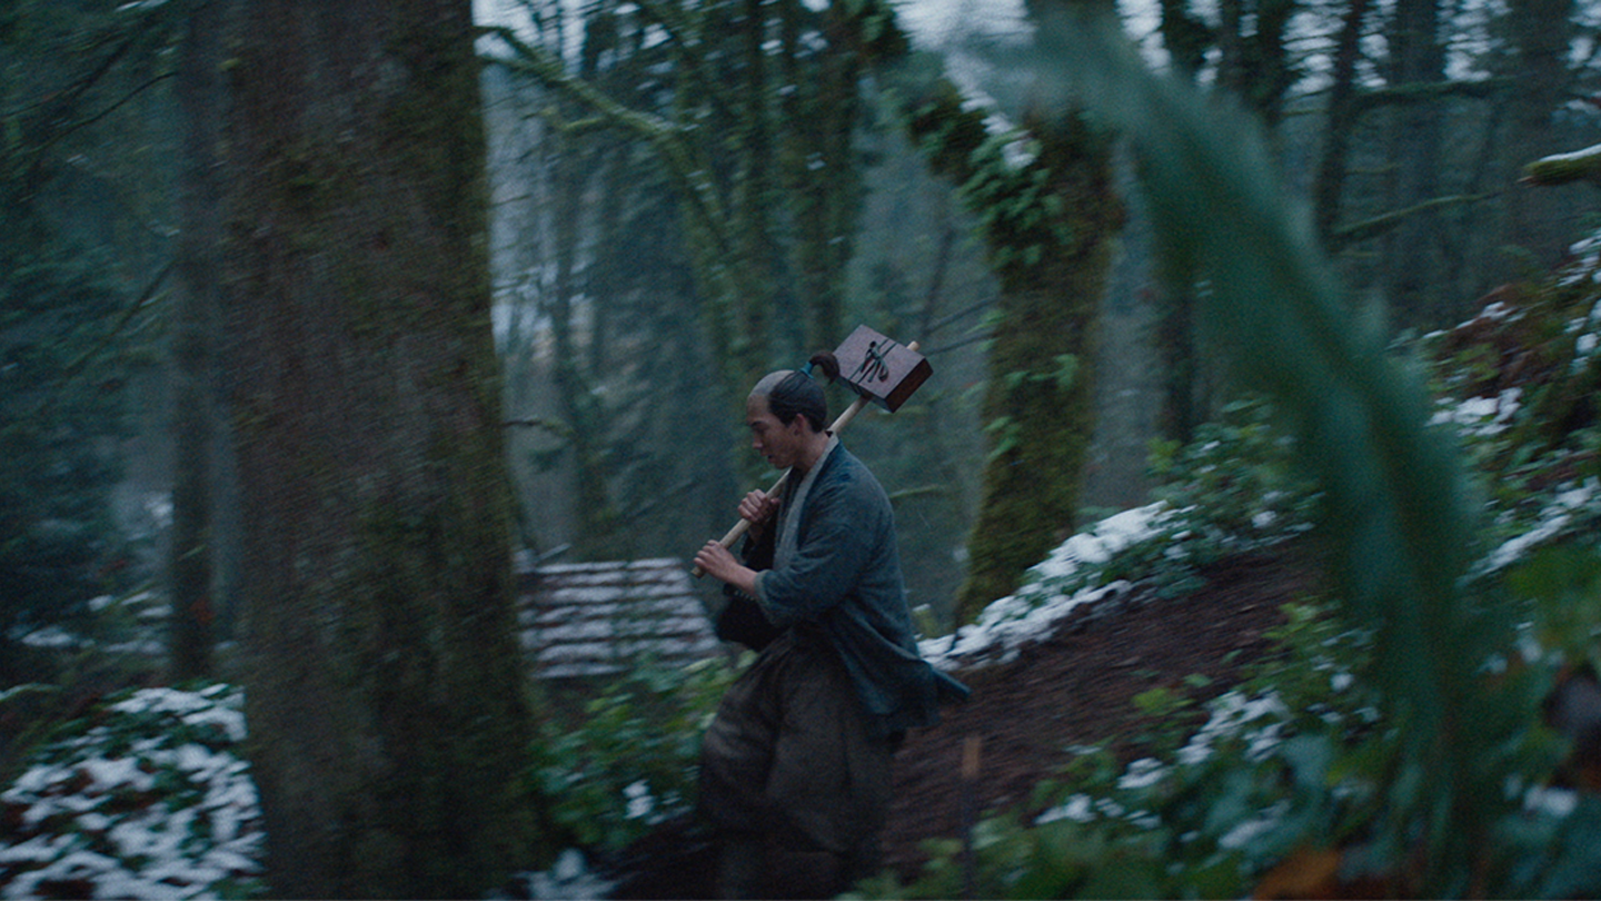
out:
<path id="1" fill-rule="evenodd" d="M 985 418 L 989 460 L 956 620 L 1010 593 L 1023 571 L 1073 532 L 1095 428 L 1098 308 L 1122 223 L 1111 141 L 1076 112 L 1026 122 L 1036 156 L 1005 160 L 985 112 L 948 82 L 909 109 L 913 139 L 962 186 L 1001 277 Z"/>

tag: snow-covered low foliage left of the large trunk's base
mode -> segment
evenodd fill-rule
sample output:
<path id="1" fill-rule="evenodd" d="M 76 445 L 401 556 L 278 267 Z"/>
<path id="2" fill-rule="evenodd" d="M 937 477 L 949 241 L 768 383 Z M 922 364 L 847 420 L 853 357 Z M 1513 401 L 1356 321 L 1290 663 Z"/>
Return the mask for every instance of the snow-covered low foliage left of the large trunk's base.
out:
<path id="1" fill-rule="evenodd" d="M 0 896 L 179 901 L 261 872 L 242 693 L 147 688 L 0 794 Z"/>

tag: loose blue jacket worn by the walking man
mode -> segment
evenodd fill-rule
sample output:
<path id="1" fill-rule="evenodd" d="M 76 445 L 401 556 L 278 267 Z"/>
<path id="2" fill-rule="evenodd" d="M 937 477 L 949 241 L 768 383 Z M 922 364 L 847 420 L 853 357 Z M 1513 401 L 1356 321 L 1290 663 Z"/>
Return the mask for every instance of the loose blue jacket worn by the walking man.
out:
<path id="1" fill-rule="evenodd" d="M 792 479 L 778 516 L 796 491 Z M 794 552 L 756 579 L 767 620 L 780 630 L 820 632 L 884 733 L 937 723 L 940 704 L 964 699 L 969 689 L 917 654 L 895 513 L 884 487 L 861 460 L 836 444 L 800 503 Z M 764 535 L 768 553 L 776 526 L 772 523 Z"/>

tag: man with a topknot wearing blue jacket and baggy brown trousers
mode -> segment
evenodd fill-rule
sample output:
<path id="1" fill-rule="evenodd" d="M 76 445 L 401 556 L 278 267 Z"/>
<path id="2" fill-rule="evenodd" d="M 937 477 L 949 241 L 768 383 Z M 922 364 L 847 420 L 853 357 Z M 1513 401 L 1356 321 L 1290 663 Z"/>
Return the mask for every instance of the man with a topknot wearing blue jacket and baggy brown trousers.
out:
<path id="1" fill-rule="evenodd" d="M 719 636 L 759 651 L 701 750 L 722 898 L 828 898 L 876 872 L 895 749 L 967 696 L 917 656 L 889 497 L 825 431 L 813 366 L 839 374 L 818 354 L 746 399 L 751 446 L 789 478 L 740 502 L 743 560 L 719 542 L 695 555 L 728 587 Z"/>

